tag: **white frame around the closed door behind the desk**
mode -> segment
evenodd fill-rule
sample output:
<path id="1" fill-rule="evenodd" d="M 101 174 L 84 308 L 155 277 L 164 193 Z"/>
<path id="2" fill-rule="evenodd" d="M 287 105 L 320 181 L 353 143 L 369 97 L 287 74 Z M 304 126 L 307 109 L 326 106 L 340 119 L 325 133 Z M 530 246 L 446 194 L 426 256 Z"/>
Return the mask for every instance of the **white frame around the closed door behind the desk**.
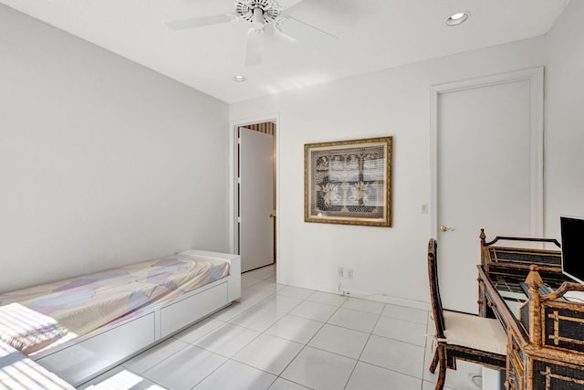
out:
<path id="1" fill-rule="evenodd" d="M 440 95 L 510 82 L 530 83 L 530 231 L 532 237 L 544 234 L 544 67 L 521 69 L 476 79 L 465 79 L 430 88 L 430 234 L 438 235 L 438 100 Z M 486 173 L 477 173 L 486 174 Z"/>

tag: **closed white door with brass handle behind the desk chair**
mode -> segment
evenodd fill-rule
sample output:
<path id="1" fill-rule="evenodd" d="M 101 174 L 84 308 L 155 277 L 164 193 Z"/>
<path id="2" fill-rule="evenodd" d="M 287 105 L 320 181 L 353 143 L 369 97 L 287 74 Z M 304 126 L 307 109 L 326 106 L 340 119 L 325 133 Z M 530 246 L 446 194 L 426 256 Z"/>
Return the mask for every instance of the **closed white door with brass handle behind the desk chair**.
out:
<path id="1" fill-rule="evenodd" d="M 480 228 L 487 239 L 533 237 L 543 220 L 542 69 L 476 83 L 434 90 L 441 295 L 445 308 L 473 313 Z"/>

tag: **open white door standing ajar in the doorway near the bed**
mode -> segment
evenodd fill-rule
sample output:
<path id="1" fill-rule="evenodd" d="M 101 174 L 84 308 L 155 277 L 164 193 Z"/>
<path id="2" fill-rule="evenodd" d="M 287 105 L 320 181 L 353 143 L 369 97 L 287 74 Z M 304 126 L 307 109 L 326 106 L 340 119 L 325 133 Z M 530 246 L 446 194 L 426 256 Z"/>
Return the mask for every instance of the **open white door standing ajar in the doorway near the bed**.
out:
<path id="1" fill-rule="evenodd" d="M 241 270 L 274 263 L 274 138 L 239 128 Z"/>

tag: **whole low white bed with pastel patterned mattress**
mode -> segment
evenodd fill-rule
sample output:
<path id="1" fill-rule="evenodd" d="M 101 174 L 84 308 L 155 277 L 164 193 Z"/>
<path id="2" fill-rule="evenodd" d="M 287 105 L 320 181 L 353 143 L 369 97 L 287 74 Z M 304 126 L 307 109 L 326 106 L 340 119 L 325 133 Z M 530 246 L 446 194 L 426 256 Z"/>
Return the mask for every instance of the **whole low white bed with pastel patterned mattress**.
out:
<path id="1" fill-rule="evenodd" d="M 71 385 L 229 305 L 237 255 L 188 250 L 0 295 L 0 339 Z"/>

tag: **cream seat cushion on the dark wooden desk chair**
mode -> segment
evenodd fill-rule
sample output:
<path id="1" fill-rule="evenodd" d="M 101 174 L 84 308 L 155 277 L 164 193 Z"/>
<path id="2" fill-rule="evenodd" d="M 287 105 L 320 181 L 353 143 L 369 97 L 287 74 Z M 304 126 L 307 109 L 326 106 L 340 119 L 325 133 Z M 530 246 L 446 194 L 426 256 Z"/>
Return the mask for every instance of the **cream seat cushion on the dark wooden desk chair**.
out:
<path id="1" fill-rule="evenodd" d="M 498 320 L 443 311 L 446 343 L 506 354 L 507 335 Z"/>

